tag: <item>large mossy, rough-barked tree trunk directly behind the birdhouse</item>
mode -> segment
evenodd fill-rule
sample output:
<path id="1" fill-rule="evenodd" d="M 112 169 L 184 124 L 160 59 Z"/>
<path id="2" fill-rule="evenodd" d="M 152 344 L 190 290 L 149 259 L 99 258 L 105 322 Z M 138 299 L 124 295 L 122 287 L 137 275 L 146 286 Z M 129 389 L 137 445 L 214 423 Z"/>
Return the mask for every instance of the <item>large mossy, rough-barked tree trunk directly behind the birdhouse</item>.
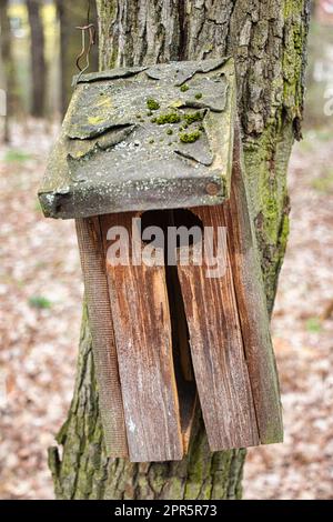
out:
<path id="1" fill-rule="evenodd" d="M 301 132 L 307 1 L 99 0 L 98 8 L 102 69 L 235 58 L 252 215 L 271 312 L 289 230 L 286 169 Z M 182 462 L 107 459 L 85 311 L 74 399 L 57 440 L 62 460 L 56 448 L 49 460 L 61 499 L 241 496 L 245 453 L 210 453 L 200 414 Z"/>

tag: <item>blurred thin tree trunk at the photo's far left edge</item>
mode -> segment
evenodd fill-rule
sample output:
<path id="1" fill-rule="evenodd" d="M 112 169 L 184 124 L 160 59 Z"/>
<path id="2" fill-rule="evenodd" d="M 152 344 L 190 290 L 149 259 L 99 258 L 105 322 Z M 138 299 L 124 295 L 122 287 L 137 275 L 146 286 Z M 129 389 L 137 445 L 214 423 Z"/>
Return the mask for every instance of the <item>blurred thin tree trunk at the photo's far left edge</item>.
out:
<path id="1" fill-rule="evenodd" d="M 3 89 L 7 97 L 7 113 L 3 117 L 4 143 L 10 141 L 9 121 L 13 111 L 14 92 L 14 68 L 11 52 L 11 32 L 8 17 L 8 0 L 0 0 L 0 57 L 3 77 L 0 82 L 0 89 Z"/>

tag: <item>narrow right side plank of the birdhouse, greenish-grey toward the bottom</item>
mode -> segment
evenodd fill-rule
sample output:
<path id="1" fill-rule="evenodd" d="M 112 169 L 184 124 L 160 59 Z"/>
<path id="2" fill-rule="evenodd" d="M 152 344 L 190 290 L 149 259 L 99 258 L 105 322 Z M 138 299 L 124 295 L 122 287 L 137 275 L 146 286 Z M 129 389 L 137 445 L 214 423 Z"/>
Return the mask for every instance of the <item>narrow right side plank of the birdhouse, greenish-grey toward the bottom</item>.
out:
<path id="1" fill-rule="evenodd" d="M 223 204 L 246 362 L 263 444 L 283 441 L 279 378 L 255 233 L 245 185 L 240 132 L 235 132 L 231 198 Z"/>

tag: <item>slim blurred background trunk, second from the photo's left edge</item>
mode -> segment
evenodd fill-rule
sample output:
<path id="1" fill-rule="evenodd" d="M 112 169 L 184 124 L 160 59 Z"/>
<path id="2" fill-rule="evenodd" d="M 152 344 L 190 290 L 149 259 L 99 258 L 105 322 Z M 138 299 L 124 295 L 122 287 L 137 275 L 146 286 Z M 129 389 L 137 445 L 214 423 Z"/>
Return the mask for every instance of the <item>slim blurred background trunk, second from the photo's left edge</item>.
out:
<path id="1" fill-rule="evenodd" d="M 31 114 L 42 118 L 46 111 L 47 66 L 44 58 L 44 31 L 40 0 L 27 0 L 31 34 Z"/>

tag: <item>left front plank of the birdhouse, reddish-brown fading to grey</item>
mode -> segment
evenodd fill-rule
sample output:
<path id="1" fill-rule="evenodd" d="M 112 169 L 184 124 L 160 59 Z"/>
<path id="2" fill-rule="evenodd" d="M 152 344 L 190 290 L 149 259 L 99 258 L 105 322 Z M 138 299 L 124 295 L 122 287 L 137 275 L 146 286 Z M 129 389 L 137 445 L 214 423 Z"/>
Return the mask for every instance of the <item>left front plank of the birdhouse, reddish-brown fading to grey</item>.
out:
<path id="1" fill-rule="evenodd" d="M 101 218 L 105 250 L 111 227 L 132 239 L 133 213 Z M 173 368 L 164 267 L 112 265 L 107 260 L 130 459 L 181 460 L 183 443 Z"/>

